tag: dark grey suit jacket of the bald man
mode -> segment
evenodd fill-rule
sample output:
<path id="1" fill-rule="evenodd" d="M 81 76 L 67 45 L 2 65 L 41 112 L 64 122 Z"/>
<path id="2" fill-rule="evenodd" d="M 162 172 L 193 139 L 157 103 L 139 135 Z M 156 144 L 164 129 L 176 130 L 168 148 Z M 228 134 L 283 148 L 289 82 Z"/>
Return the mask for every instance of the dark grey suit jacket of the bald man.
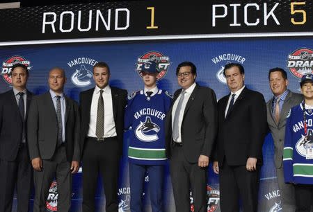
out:
<path id="1" fill-rule="evenodd" d="M 65 96 L 65 149 L 67 161 L 80 160 L 79 148 L 79 107 Z M 31 159 L 51 159 L 58 143 L 58 119 L 56 109 L 48 91 L 33 97 L 29 107 L 28 141 Z"/>

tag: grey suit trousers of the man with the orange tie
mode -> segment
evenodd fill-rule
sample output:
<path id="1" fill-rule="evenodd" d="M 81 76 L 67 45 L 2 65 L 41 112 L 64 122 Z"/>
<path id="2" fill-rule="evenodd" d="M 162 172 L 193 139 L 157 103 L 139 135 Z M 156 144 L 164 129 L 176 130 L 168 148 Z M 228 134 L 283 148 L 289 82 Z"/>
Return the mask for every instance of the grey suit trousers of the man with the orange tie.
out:
<path id="1" fill-rule="evenodd" d="M 278 188 L 280 188 L 280 199 L 282 200 L 282 211 L 294 212 L 296 210 L 296 200 L 294 195 L 294 185 L 284 183 L 284 169 L 276 168 Z"/>

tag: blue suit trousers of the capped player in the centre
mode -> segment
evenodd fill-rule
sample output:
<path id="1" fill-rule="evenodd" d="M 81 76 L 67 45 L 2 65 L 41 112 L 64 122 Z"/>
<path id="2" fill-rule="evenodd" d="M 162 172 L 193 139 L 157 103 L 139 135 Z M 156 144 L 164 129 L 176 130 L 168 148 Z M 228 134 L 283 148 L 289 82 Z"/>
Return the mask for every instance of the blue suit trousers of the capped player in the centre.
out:
<path id="1" fill-rule="evenodd" d="M 149 191 L 152 212 L 162 212 L 164 166 L 129 163 L 131 212 L 143 211 L 143 188 L 145 184 L 146 173 L 149 176 Z"/>

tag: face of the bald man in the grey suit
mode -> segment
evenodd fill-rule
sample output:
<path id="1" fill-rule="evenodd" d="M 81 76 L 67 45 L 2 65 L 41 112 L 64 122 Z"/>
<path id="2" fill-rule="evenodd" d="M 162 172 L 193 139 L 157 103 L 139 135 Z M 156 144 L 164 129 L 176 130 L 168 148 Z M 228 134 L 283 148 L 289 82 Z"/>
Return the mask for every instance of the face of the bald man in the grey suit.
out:
<path id="1" fill-rule="evenodd" d="M 66 82 L 65 73 L 61 69 L 52 69 L 49 72 L 49 87 L 54 93 L 63 93 L 64 85 Z"/>

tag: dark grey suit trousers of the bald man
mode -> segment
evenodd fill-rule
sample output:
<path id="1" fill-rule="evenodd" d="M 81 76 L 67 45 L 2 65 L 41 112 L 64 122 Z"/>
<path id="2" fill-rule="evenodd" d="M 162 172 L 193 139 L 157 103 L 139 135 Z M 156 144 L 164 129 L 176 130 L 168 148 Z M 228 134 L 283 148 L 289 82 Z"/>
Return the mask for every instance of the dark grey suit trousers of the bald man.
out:
<path id="1" fill-rule="evenodd" d="M 54 178 L 58 188 L 58 212 L 68 212 L 72 198 L 72 173 L 65 145 L 61 145 L 49 160 L 42 160 L 42 170 L 34 171 L 35 200 L 33 212 L 45 212 L 49 188 Z"/>

